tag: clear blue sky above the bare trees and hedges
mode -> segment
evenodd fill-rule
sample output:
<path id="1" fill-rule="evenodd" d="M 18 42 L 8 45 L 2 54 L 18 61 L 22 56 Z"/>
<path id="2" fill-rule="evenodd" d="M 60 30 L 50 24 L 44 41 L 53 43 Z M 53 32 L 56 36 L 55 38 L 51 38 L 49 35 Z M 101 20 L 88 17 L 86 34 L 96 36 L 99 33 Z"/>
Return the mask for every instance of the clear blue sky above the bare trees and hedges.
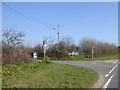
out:
<path id="1" fill-rule="evenodd" d="M 118 3 L 2 3 L 2 27 L 24 32 L 26 45 L 42 44 L 44 38 L 57 42 L 57 25 L 60 26 L 60 38 L 72 37 L 75 44 L 83 38 L 93 38 L 117 45 Z"/>

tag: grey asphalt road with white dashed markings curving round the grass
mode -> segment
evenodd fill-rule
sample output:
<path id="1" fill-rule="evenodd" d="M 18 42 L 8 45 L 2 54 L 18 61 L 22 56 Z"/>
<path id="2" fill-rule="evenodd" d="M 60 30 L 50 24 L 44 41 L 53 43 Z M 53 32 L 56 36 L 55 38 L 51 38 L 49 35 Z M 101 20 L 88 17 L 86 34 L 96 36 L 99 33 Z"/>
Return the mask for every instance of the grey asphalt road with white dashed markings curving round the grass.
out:
<path id="1" fill-rule="evenodd" d="M 120 75 L 118 75 L 118 72 L 120 73 L 120 64 L 118 60 L 55 61 L 55 63 L 70 64 L 93 69 L 98 72 L 100 77 L 93 88 L 114 88 L 114 90 L 116 88 L 116 90 L 118 90 L 118 78 L 120 79 Z"/>

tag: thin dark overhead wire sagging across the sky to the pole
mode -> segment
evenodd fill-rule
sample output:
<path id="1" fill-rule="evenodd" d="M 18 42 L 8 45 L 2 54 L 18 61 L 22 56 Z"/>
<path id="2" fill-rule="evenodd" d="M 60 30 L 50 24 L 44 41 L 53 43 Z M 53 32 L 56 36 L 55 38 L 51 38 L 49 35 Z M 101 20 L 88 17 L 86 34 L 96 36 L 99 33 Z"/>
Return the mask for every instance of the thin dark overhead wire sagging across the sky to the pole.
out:
<path id="1" fill-rule="evenodd" d="M 55 25 L 53 26 L 53 25 L 50 25 L 50 24 L 46 24 L 46 23 L 42 23 L 42 22 L 39 22 L 39 21 L 37 21 L 37 20 L 34 20 L 34 19 L 32 19 L 32 18 L 30 18 L 30 17 L 28 17 L 28 16 L 26 16 L 26 15 L 20 13 L 19 11 L 15 10 L 14 8 L 10 7 L 9 5 L 7 5 L 7 4 L 5 4 L 5 3 L 2 3 L 2 4 L 4 4 L 4 6 L 6 6 L 6 7 L 9 8 L 9 9 L 11 9 L 11 10 L 14 11 L 15 13 L 17 13 L 17 14 L 23 16 L 24 18 L 26 18 L 26 19 L 28 19 L 28 20 L 34 22 L 34 23 L 41 24 L 41 25 L 44 25 L 44 26 L 50 26 L 50 27 L 51 27 L 51 26 L 52 26 L 52 27 L 55 26 Z"/>

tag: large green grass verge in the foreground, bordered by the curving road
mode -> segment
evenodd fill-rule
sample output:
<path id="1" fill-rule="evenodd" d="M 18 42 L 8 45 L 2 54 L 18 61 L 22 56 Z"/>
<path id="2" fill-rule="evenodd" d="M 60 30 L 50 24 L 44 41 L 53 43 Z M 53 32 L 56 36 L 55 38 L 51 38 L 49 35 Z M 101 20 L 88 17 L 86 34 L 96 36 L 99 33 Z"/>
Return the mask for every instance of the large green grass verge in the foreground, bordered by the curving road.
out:
<path id="1" fill-rule="evenodd" d="M 3 66 L 3 88 L 85 88 L 98 80 L 90 69 L 54 63 Z"/>

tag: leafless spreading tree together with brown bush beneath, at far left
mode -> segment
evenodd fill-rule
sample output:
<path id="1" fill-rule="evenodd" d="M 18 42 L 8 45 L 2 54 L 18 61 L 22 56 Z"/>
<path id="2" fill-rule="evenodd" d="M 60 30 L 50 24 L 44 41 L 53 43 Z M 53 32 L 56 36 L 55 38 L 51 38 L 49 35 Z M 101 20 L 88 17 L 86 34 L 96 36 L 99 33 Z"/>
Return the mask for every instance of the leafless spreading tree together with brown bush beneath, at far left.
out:
<path id="1" fill-rule="evenodd" d="M 24 35 L 23 32 L 17 32 L 13 29 L 6 29 L 3 31 L 3 64 L 20 64 L 31 61 L 28 49 L 21 46 Z"/>

